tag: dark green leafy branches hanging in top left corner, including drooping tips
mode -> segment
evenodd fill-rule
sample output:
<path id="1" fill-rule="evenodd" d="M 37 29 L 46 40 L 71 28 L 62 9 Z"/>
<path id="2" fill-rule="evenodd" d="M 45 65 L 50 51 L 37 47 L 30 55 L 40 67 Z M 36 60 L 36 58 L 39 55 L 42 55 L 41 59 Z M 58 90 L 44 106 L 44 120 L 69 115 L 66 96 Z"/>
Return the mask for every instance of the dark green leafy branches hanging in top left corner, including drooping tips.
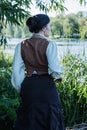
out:
<path id="1" fill-rule="evenodd" d="M 30 16 L 31 0 L 1 0 L 0 1 L 0 40 L 1 36 L 5 37 L 3 30 L 6 28 L 7 23 L 11 25 L 20 25 L 23 20 Z M 14 29 L 15 30 L 15 29 Z M 14 30 L 11 30 L 14 36 Z M 4 43 L 3 43 L 4 44 Z M 2 45 L 3 45 L 2 44 Z"/>

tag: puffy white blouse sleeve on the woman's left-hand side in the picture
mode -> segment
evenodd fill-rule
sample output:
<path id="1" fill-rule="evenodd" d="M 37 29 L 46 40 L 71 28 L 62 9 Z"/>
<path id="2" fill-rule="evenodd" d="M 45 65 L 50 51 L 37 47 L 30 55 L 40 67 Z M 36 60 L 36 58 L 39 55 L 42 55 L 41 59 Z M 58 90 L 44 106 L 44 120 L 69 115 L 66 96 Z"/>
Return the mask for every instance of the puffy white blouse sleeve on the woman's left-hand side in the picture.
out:
<path id="1" fill-rule="evenodd" d="M 12 76 L 11 83 L 13 87 L 20 91 L 21 83 L 25 77 L 25 65 L 21 57 L 21 43 L 15 48 L 13 65 L 12 65 Z"/>

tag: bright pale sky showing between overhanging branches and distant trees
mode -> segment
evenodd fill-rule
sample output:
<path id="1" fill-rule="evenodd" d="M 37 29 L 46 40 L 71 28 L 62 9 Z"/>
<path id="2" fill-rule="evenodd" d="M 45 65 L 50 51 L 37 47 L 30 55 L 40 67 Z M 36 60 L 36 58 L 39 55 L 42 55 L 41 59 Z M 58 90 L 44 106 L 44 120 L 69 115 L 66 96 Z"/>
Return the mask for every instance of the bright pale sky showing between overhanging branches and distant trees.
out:
<path id="1" fill-rule="evenodd" d="M 31 14 L 35 15 L 37 13 L 43 13 L 41 12 L 36 6 L 35 6 L 35 0 L 33 0 L 33 5 L 31 6 Z M 87 0 L 86 0 L 87 1 Z M 65 11 L 65 14 L 74 13 L 76 14 L 79 11 L 86 11 L 87 12 L 87 4 L 84 6 L 84 3 L 80 5 L 79 0 L 65 0 L 64 6 L 68 9 L 68 11 Z M 49 12 L 49 16 L 56 16 L 56 12 Z"/>

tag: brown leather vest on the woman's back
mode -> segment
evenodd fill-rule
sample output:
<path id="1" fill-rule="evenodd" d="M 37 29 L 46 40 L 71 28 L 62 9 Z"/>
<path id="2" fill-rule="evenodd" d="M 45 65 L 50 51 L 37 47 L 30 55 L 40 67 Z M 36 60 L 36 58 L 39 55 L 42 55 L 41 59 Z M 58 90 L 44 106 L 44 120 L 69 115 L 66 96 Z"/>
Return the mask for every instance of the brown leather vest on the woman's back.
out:
<path id="1" fill-rule="evenodd" d="M 47 39 L 32 37 L 21 43 L 21 55 L 25 63 L 27 76 L 35 71 L 37 74 L 48 73 L 46 49 Z"/>

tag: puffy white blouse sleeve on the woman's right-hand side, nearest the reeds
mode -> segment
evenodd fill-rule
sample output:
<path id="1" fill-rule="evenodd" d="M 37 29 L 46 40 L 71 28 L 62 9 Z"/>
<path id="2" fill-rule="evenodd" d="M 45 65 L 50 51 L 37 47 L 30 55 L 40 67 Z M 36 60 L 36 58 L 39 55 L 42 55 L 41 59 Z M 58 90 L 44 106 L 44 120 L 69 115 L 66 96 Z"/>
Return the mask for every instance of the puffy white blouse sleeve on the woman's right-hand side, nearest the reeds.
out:
<path id="1" fill-rule="evenodd" d="M 52 77 L 55 79 L 61 78 L 64 69 L 59 62 L 57 45 L 55 42 L 53 41 L 49 42 L 46 50 L 46 56 L 48 60 L 48 73 L 51 74 Z"/>

